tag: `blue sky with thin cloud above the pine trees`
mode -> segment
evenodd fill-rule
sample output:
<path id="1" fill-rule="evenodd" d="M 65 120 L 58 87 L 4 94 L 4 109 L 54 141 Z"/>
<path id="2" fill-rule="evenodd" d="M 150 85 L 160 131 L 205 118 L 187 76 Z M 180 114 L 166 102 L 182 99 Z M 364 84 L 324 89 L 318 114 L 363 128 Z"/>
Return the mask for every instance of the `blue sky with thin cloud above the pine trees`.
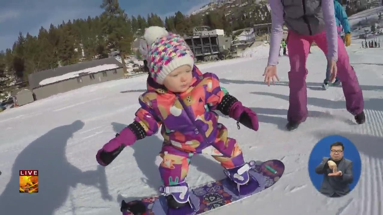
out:
<path id="1" fill-rule="evenodd" d="M 121 8 L 131 16 L 157 13 L 164 18 L 178 10 L 189 14 L 210 0 L 119 0 Z M 19 32 L 37 36 L 41 26 L 57 26 L 64 20 L 95 17 L 102 13 L 101 0 L 9 0 L 0 7 L 0 50 L 11 48 Z"/>

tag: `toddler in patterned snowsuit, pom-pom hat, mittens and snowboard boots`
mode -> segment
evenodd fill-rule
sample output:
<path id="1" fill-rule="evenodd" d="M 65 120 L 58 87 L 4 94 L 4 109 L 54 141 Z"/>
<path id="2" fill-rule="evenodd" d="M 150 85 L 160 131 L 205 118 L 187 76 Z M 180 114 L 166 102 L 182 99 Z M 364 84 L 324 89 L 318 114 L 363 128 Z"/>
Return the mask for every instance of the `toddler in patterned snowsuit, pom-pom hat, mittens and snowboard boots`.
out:
<path id="1" fill-rule="evenodd" d="M 212 155 L 220 162 L 240 194 L 254 191 L 258 183 L 248 173 L 249 163 L 254 162 L 245 163 L 241 148 L 228 137 L 228 130 L 218 123 L 214 111 L 255 131 L 257 115 L 222 90 L 216 75 L 198 70 L 193 52 L 182 37 L 152 26 L 146 29 L 144 39 L 150 75 L 147 91 L 139 97 L 141 108 L 133 123 L 98 151 L 97 162 L 109 165 L 124 147 L 160 130 L 164 137 L 159 166 L 164 186 L 160 192 L 166 196 L 168 214 L 189 214 L 194 210 L 185 177 L 195 154 Z"/>

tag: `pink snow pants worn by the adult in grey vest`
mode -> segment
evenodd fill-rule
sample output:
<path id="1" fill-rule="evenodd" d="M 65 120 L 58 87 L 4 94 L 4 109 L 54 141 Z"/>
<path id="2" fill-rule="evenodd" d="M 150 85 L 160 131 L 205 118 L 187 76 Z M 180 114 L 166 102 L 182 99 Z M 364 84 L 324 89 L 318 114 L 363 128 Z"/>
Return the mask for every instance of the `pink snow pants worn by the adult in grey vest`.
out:
<path id="1" fill-rule="evenodd" d="M 315 42 L 318 47 L 327 54 L 326 33 L 309 36 L 300 35 L 289 31 L 287 43 L 288 57 L 290 59 L 289 79 L 289 109 L 287 120 L 292 122 L 304 122 L 308 114 L 307 110 L 307 89 L 306 89 L 306 59 L 310 44 Z M 346 109 L 356 115 L 363 111 L 364 101 L 358 78 L 349 62 L 349 55 L 345 49 L 342 39 L 338 36 L 338 60 L 337 76 L 342 81 L 343 93 L 346 100 Z"/>

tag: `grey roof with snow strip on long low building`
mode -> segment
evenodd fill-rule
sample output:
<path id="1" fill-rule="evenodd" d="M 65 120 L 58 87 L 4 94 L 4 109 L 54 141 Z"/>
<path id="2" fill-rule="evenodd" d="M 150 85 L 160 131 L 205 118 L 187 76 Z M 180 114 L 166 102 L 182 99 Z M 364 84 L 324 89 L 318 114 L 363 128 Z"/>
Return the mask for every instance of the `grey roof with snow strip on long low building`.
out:
<path id="1" fill-rule="evenodd" d="M 81 75 L 83 73 L 97 73 L 122 67 L 123 65 L 113 57 L 67 65 L 30 74 L 28 76 L 29 86 L 34 89 L 57 81 L 78 77 L 80 73 Z"/>

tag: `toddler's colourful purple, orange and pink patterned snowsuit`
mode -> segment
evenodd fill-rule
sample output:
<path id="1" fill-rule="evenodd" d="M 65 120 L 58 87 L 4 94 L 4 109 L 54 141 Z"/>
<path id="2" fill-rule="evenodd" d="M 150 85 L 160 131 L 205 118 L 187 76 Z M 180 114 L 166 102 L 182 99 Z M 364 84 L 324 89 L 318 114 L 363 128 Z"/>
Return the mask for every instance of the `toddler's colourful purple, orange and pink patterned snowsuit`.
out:
<path id="1" fill-rule="evenodd" d="M 165 186 L 179 184 L 187 176 L 191 157 L 196 153 L 212 155 L 224 168 L 244 164 L 236 140 L 228 137 L 223 124 L 218 123 L 217 105 L 224 91 L 213 73 L 202 74 L 193 67 L 193 81 L 183 93 L 172 93 L 151 77 L 148 90 L 139 97 L 141 108 L 135 121 L 150 136 L 159 130 L 164 143 L 159 171 Z"/>

